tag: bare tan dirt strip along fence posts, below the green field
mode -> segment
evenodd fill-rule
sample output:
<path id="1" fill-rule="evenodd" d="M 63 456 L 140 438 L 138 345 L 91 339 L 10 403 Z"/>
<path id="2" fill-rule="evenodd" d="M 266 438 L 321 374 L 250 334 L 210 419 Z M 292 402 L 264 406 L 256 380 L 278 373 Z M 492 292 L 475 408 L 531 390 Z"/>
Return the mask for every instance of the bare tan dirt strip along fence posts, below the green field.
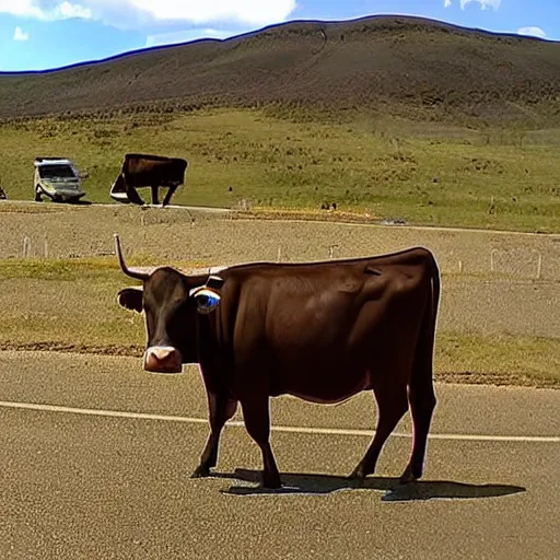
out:
<path id="1" fill-rule="evenodd" d="M 0 259 L 21 257 L 25 236 L 30 256 L 45 255 L 45 240 L 50 258 L 113 254 L 114 233 L 120 234 L 127 254 L 220 265 L 347 258 L 423 245 L 435 254 L 443 273 L 488 275 L 493 258 L 494 279 L 560 282 L 560 235 L 255 220 L 244 219 L 242 212 L 178 208 L 10 202 L 0 202 Z"/>

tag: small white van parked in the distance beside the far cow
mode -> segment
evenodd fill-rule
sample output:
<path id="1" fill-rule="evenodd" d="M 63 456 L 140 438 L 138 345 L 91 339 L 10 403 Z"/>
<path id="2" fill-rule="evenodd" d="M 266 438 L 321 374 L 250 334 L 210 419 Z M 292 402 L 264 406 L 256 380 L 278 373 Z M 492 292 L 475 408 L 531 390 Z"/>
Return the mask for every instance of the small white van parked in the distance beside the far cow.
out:
<path id="1" fill-rule="evenodd" d="M 43 202 L 43 196 L 55 202 L 78 201 L 85 195 L 82 178 L 75 165 L 62 158 L 35 158 L 35 202 Z"/>

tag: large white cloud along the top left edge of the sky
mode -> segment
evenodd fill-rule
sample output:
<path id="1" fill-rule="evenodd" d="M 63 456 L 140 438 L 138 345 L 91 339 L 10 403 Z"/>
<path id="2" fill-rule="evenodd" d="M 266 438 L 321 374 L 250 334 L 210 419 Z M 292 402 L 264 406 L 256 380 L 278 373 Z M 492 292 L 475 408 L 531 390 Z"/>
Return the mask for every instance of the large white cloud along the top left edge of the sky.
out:
<path id="1" fill-rule="evenodd" d="M 115 26 L 158 22 L 235 22 L 267 25 L 284 21 L 295 0 L 0 0 L 0 13 L 65 20 L 82 18 Z"/>

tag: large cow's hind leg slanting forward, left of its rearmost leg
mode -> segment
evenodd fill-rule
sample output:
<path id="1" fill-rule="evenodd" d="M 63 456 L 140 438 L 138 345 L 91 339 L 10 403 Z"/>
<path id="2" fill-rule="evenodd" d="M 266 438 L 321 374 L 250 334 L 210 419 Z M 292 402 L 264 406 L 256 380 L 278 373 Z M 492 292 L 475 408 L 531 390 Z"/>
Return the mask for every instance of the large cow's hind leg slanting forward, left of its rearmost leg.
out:
<path id="1" fill-rule="evenodd" d="M 377 428 L 365 455 L 350 475 L 350 478 L 358 480 L 363 480 L 368 475 L 375 471 L 375 465 L 383 445 L 408 410 L 406 385 L 378 385 L 374 387 L 373 392 L 377 400 Z"/>

